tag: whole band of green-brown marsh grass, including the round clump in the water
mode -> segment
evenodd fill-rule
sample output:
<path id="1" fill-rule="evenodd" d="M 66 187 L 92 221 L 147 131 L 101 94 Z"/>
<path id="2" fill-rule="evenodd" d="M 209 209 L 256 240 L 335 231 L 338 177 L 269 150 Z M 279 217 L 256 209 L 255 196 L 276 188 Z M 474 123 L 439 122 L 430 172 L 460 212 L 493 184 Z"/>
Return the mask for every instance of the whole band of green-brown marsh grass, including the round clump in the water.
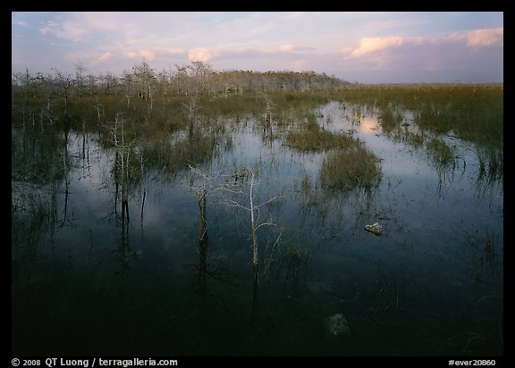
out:
<path id="1" fill-rule="evenodd" d="M 66 128 L 63 98 L 53 96 L 48 105 L 44 94 L 36 94 L 27 102 L 21 91 L 13 89 L 13 131 L 23 130 L 22 134 L 13 134 L 12 138 L 13 175 L 32 177 L 32 180 L 58 175 L 55 165 L 60 159 L 63 129 Z M 269 105 L 273 134 L 268 138 L 282 137 L 285 133 L 285 144 L 305 152 L 345 148 L 345 153 L 338 154 L 339 158 L 334 156 L 336 154 L 327 157 L 325 165 L 337 169 L 334 177 L 353 177 L 354 183 L 368 186 L 365 183 L 375 182 L 374 178 L 378 176 L 372 156 L 362 153 L 350 136 L 323 130 L 317 125 L 317 106 L 335 100 L 378 113 L 385 133 L 416 148 L 426 144 L 428 153 L 443 167 L 452 167 L 455 161 L 452 149 L 437 140 L 425 142 L 426 132 L 432 133 L 429 136 L 442 134 L 469 139 L 477 145 L 479 177 L 488 180 L 503 177 L 502 85 L 350 85 L 308 92 L 247 89 L 238 95 L 196 98 L 195 119 L 192 120 L 184 108 L 190 104 L 190 96 L 156 94 L 151 105 L 137 96 L 132 96 L 128 104 L 123 94 L 75 96 L 69 102 L 69 128 L 98 132 L 103 145 L 112 146 L 113 121 L 116 116 L 122 116 L 125 138 L 138 142 L 148 156 L 148 165 L 156 165 L 156 170 L 176 171 L 185 163 L 199 163 L 212 155 L 215 152 L 214 137 L 224 141 L 227 134 L 220 128 L 226 121 L 248 121 L 249 118 L 264 121 Z M 401 125 L 403 112 L 414 116 L 413 122 L 420 132 L 413 133 Z M 168 143 L 177 134 L 191 136 L 189 131 L 192 130 L 197 133 L 189 138 L 190 142 L 175 140 L 173 144 Z M 339 161 L 352 165 L 349 163 L 352 160 L 364 167 L 336 167 Z M 372 162 L 366 163 L 367 160 Z M 370 180 L 367 180 L 368 176 Z M 324 177 L 327 188 L 345 187 L 342 182 L 346 180 L 330 178 L 329 172 L 325 172 Z M 340 184 L 336 184 L 338 181 Z"/>

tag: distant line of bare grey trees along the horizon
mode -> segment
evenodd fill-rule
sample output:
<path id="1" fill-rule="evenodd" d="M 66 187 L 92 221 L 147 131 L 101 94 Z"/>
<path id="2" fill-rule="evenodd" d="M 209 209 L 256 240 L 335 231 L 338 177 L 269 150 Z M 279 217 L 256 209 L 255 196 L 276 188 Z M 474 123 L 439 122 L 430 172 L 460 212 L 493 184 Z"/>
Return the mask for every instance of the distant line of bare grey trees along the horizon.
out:
<path id="1" fill-rule="evenodd" d="M 345 88 L 349 82 L 315 71 L 214 71 L 203 62 L 175 65 L 170 71 L 155 71 L 143 61 L 122 71 L 121 75 L 107 72 L 95 75 L 82 65 L 74 73 L 13 72 L 13 94 L 22 94 L 25 102 L 30 98 L 54 96 L 69 98 L 80 96 L 123 96 L 127 104 L 133 98 L 152 103 L 156 97 L 166 96 L 229 96 L 246 91 L 317 91 Z"/>

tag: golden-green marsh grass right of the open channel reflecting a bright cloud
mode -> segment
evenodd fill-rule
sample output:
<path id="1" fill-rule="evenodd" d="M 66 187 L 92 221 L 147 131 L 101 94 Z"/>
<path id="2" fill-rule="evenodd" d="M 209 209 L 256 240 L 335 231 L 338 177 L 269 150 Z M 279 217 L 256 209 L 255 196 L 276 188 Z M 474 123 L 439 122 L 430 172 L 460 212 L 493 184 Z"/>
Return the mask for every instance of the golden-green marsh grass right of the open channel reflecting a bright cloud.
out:
<path id="1" fill-rule="evenodd" d="M 478 158 L 488 166 L 485 169 L 488 176 L 502 178 L 502 84 L 354 86 L 343 89 L 339 100 L 376 109 L 386 132 L 397 131 L 401 124 L 398 112 L 406 110 L 413 114 L 413 122 L 423 131 L 469 140 L 477 145 Z M 406 142 L 419 144 L 411 138 Z"/>

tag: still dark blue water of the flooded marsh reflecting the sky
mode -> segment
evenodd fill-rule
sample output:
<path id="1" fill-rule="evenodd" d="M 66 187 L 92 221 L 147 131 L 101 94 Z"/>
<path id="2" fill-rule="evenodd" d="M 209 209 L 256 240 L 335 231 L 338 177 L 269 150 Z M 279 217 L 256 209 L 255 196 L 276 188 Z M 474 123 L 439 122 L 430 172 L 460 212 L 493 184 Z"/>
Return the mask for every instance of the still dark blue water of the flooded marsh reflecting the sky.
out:
<path id="1" fill-rule="evenodd" d="M 377 188 L 326 190 L 327 152 L 248 117 L 194 170 L 146 171 L 123 207 L 114 151 L 71 131 L 71 170 L 37 189 L 54 193 L 56 225 L 13 266 L 13 355 L 502 355 L 503 188 L 478 174 L 476 147 L 439 137 L 457 156 L 443 167 L 374 112 L 333 102 L 317 123 L 381 159 Z M 28 190 L 13 185 L 13 202 Z"/>

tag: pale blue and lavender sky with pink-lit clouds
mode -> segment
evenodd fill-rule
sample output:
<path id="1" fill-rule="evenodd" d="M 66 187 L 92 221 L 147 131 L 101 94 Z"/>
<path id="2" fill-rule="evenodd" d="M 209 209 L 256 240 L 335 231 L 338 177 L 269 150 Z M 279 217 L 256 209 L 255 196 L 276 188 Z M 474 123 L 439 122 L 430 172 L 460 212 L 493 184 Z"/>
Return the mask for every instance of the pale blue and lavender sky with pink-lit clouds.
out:
<path id="1" fill-rule="evenodd" d="M 13 12 L 12 71 L 191 62 L 359 83 L 503 81 L 502 12 Z"/>

